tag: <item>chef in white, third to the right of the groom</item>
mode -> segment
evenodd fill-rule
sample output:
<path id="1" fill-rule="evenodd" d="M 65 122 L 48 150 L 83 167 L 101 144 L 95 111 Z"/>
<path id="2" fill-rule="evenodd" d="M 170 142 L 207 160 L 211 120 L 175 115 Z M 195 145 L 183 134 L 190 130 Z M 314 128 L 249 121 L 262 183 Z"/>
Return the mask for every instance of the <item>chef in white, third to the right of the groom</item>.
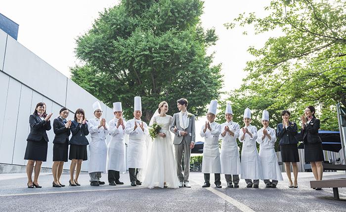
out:
<path id="1" fill-rule="evenodd" d="M 258 188 L 259 179 L 263 179 L 262 167 L 256 146 L 257 128 L 250 124 L 251 111 L 249 108 L 244 110 L 243 121 L 245 127 L 243 127 L 239 133 L 239 141 L 243 143 L 241 155 L 241 178 L 245 179 L 247 188 L 252 188 L 252 186 Z"/>

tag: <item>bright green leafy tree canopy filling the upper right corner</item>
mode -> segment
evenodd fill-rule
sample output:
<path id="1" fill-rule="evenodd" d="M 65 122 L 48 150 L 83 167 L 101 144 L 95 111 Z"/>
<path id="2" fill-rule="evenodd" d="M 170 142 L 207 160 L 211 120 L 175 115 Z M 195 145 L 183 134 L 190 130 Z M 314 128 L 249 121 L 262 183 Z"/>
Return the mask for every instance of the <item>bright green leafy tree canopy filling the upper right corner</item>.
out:
<path id="1" fill-rule="evenodd" d="M 303 109 L 314 105 L 321 129 L 338 130 L 335 104 L 346 106 L 345 8 L 345 0 L 272 0 L 265 17 L 243 13 L 225 24 L 227 28 L 250 25 L 256 34 L 272 30 L 284 34 L 269 37 L 260 49 L 248 49 L 255 60 L 247 63 L 247 77 L 228 99 L 236 120 L 241 121 L 243 109 L 250 107 L 261 126 L 261 111 L 267 109 L 275 127 L 283 109 L 299 121 Z"/>

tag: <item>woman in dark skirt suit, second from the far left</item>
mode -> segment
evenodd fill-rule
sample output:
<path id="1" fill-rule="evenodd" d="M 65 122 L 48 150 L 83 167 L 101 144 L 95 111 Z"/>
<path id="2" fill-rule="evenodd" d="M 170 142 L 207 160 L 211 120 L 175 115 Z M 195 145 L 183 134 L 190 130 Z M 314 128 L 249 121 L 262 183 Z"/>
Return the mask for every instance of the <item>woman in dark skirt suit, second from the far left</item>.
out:
<path id="1" fill-rule="evenodd" d="M 60 109 L 59 117 L 53 121 L 53 130 L 54 130 L 54 146 L 53 146 L 53 187 L 64 187 L 65 185 L 61 184 L 60 177 L 64 167 L 64 162 L 67 162 L 67 153 L 69 150 L 69 136 L 71 120 L 66 120 L 69 115 L 69 110 L 65 107 Z"/>

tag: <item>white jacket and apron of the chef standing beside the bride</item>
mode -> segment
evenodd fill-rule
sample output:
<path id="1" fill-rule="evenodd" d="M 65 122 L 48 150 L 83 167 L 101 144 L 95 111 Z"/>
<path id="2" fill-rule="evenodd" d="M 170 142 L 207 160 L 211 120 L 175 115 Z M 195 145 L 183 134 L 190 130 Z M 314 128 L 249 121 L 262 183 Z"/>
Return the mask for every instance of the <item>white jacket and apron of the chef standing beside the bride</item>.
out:
<path id="1" fill-rule="evenodd" d="M 125 131 L 129 135 L 128 168 L 144 168 L 146 163 L 146 138 L 149 135 L 148 125 L 143 122 L 144 132 L 139 127 L 141 120 L 136 120 L 138 127 L 134 129 L 134 119 L 126 123 Z"/>

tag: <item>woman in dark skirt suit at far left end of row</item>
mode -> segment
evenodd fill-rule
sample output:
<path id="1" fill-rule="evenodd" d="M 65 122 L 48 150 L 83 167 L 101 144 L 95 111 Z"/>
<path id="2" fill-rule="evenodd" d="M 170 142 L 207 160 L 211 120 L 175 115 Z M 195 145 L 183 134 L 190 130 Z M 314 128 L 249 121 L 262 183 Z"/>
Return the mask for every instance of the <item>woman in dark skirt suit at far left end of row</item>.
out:
<path id="1" fill-rule="evenodd" d="M 30 134 L 27 138 L 27 146 L 24 159 L 28 160 L 26 174 L 28 176 L 28 188 L 41 188 L 39 185 L 39 175 L 43 161 L 47 160 L 48 136 L 45 131 L 50 130 L 50 117 L 52 113 L 45 112 L 45 104 L 38 103 L 35 111 L 29 117 Z M 35 164 L 34 181 L 32 179 Z"/>

